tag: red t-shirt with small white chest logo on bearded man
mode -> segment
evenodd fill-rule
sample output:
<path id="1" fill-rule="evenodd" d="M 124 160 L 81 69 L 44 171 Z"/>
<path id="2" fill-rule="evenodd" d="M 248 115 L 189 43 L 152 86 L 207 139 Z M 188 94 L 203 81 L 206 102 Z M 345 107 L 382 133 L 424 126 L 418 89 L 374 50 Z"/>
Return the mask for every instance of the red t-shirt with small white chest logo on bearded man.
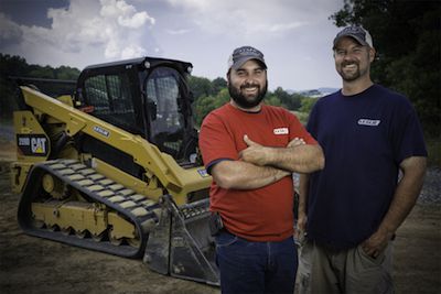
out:
<path id="1" fill-rule="evenodd" d="M 295 137 L 316 144 L 298 118 L 280 107 L 262 105 L 245 112 L 230 104 L 203 121 L 200 149 L 207 171 L 222 160 L 238 160 L 247 148 L 244 135 L 265 146 L 286 148 Z M 286 176 L 257 189 L 225 189 L 213 181 L 211 210 L 218 211 L 232 233 L 251 241 L 280 241 L 293 233 L 293 183 Z"/>

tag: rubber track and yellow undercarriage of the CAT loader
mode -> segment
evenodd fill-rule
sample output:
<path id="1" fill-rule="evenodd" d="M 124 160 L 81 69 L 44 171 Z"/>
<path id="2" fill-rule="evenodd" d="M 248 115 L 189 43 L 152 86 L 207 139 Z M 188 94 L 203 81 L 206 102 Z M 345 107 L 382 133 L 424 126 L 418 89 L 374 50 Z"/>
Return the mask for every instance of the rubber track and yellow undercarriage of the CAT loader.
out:
<path id="1" fill-rule="evenodd" d="M 19 205 L 33 236 L 137 258 L 161 214 L 158 203 L 73 160 L 35 164 Z"/>

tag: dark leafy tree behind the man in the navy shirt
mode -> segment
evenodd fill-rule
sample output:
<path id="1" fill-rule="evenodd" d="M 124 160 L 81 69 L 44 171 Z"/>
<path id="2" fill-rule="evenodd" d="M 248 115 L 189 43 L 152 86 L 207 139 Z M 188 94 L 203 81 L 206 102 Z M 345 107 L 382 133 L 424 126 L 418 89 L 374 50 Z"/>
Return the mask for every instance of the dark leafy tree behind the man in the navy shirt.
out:
<path id="1" fill-rule="evenodd" d="M 441 2 L 345 0 L 333 15 L 337 26 L 363 25 L 377 51 L 374 81 L 412 101 L 424 131 L 440 137 Z"/>

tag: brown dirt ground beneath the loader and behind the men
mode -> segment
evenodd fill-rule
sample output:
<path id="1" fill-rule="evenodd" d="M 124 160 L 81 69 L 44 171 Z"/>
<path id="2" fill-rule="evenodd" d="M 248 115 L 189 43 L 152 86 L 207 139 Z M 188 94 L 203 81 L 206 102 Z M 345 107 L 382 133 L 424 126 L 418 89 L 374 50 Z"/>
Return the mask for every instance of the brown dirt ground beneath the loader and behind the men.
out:
<path id="1" fill-rule="evenodd" d="M 218 287 L 154 273 L 141 260 L 24 235 L 17 224 L 19 199 L 10 189 L 11 155 L 4 153 L 12 146 L 0 144 L 0 293 L 220 293 Z M 418 204 L 398 230 L 397 294 L 441 293 L 440 219 L 441 205 Z"/>

